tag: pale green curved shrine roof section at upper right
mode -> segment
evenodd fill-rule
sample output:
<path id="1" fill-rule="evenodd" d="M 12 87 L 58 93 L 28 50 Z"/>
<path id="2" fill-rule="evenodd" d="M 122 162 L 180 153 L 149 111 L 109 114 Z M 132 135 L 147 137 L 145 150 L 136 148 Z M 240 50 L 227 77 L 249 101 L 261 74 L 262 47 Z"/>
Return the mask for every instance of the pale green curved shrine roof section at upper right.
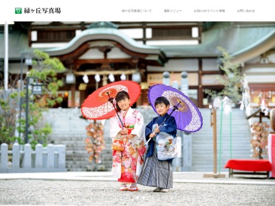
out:
<path id="1" fill-rule="evenodd" d="M 219 27 L 203 32 L 199 45 L 166 46 L 162 50 L 168 58 L 216 57 L 220 56 L 218 46 L 225 48 L 229 54 L 239 54 L 274 34 L 275 23 L 269 27 Z"/>

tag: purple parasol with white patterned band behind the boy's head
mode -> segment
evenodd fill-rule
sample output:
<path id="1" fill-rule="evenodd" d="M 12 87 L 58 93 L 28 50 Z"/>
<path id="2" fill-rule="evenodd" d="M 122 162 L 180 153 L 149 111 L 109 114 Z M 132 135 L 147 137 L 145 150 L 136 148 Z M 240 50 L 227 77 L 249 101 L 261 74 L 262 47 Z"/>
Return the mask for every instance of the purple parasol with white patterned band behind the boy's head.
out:
<path id="1" fill-rule="evenodd" d="M 165 84 L 153 85 L 148 91 L 148 100 L 156 113 L 155 100 L 161 96 L 170 102 L 168 114 L 175 117 L 177 129 L 188 133 L 201 129 L 201 113 L 184 93 Z"/>

